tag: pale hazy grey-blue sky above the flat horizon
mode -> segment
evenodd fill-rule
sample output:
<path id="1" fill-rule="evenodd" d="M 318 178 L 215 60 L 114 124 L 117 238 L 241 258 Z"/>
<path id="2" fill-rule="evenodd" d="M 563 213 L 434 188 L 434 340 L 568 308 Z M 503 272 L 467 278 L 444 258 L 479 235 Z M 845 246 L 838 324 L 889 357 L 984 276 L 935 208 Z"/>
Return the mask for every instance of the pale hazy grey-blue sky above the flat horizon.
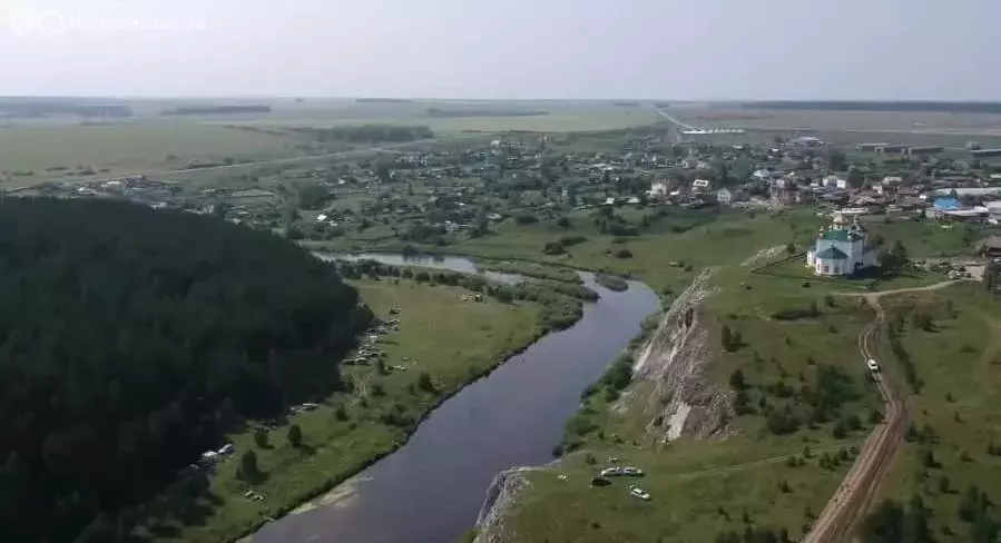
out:
<path id="1" fill-rule="evenodd" d="M 0 0 L 0 96 L 1001 100 L 1001 0 Z"/>

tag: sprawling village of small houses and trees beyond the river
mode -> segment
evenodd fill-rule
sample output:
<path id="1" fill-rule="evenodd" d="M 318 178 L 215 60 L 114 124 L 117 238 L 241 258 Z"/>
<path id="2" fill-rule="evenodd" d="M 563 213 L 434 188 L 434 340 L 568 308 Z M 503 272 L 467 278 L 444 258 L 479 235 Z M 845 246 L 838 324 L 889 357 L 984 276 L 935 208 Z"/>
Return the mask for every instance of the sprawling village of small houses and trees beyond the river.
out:
<path id="1" fill-rule="evenodd" d="M 567 216 L 596 211 L 608 216 L 602 228 L 615 236 L 637 235 L 649 214 L 671 209 L 808 206 L 836 210 L 856 229 L 858 217 L 881 215 L 945 227 L 1001 220 L 1001 162 L 991 161 L 1001 150 L 972 141 L 962 149 L 865 142 L 850 148 L 812 136 L 720 144 L 712 138 L 745 136 L 714 134 L 669 144 L 670 128 L 664 126 L 599 136 L 509 135 L 465 147 L 375 152 L 320 167 L 261 167 L 208 180 L 137 175 L 47 182 L 24 195 L 124 198 L 216 215 L 291 239 L 345 245 L 398 239 L 443 246 L 504 221 L 566 224 Z M 864 259 L 861 253 L 857 259 Z M 835 268 L 817 269 L 833 274 Z M 837 269 L 841 275 L 855 266 Z"/>

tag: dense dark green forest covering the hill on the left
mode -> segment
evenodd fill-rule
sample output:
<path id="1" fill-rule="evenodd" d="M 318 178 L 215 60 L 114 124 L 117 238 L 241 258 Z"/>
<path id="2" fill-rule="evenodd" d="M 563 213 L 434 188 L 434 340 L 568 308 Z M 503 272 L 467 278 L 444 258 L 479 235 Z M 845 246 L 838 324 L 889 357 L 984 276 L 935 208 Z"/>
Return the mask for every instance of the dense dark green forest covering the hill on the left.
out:
<path id="1" fill-rule="evenodd" d="M 114 541 L 224 430 L 340 387 L 371 320 L 276 236 L 108 200 L 8 198 L 0 300 L 0 534 L 18 543 Z"/>

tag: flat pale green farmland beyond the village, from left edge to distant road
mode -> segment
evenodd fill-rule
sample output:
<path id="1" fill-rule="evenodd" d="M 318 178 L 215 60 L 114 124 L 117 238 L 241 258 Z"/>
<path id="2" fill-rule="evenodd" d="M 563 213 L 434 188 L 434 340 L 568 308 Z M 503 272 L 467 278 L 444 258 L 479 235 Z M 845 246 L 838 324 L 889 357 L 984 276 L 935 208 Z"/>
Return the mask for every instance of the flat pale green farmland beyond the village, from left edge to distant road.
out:
<path id="1" fill-rule="evenodd" d="M 310 144 L 308 137 L 292 131 L 296 127 L 429 126 L 439 139 L 449 140 L 463 137 L 463 132 L 576 132 L 661 120 L 649 108 L 601 103 L 355 103 L 346 100 L 281 102 L 267 115 L 158 117 L 159 109 L 168 106 L 167 102 L 137 102 L 137 116 L 127 121 L 84 124 L 78 119 L 52 118 L 0 127 L 0 172 L 6 172 L 0 177 L 9 177 L 7 182 L 21 187 L 50 179 L 168 172 L 183 169 L 190 161 L 292 158 L 305 155 L 298 147 Z M 458 116 L 429 115 L 428 109 L 435 107 L 455 111 Z M 470 108 L 498 115 L 464 116 Z M 343 149 L 316 148 L 316 152 L 336 150 Z M 79 175 L 85 168 L 92 174 Z"/>

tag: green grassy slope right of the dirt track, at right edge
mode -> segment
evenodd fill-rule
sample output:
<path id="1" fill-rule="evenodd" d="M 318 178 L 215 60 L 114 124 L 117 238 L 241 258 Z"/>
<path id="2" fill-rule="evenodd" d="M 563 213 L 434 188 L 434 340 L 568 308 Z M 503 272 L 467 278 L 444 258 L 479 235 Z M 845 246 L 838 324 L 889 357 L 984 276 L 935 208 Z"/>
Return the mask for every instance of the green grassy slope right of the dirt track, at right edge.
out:
<path id="1" fill-rule="evenodd" d="M 962 495 L 977 485 L 1001 501 L 1001 457 L 990 452 L 1001 444 L 1001 305 L 975 283 L 883 305 L 891 322 L 902 319 L 900 337 L 921 385 L 912 396 L 914 434 L 880 497 L 905 502 L 919 494 L 933 511 L 935 541 L 971 541 L 970 524 L 956 514 Z M 919 326 L 917 313 L 931 316 L 932 326 Z M 887 343 L 884 356 L 899 365 Z"/>

